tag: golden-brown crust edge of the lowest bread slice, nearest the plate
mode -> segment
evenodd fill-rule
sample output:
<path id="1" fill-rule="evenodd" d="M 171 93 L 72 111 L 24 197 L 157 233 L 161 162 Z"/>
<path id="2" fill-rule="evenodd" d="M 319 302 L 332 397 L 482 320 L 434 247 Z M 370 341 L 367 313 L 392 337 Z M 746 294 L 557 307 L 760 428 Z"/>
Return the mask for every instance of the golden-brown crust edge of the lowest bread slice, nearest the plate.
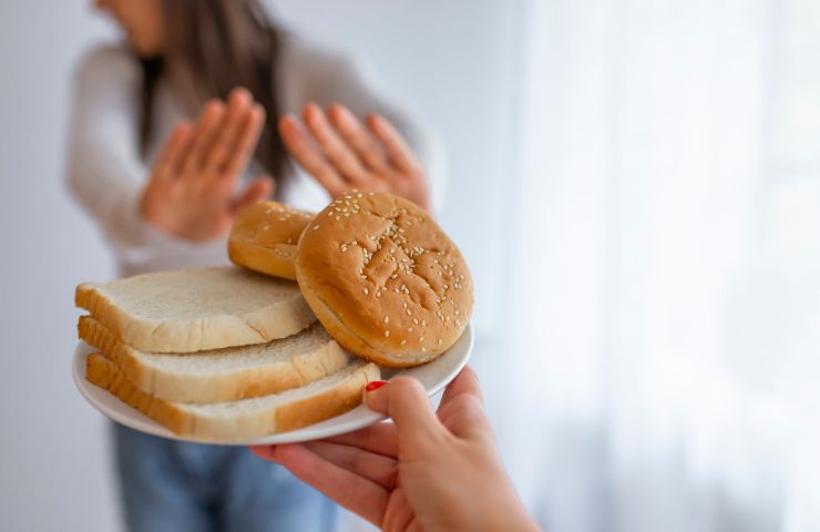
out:
<path id="1" fill-rule="evenodd" d="M 202 442 L 230 443 L 295 430 L 349 411 L 361 402 L 365 385 L 379 378 L 379 368 L 367 364 L 320 392 L 263 411 L 233 416 L 204 415 L 195 406 L 145 393 L 134 387 L 113 361 L 99 352 L 88 356 L 85 378 L 180 437 Z"/>

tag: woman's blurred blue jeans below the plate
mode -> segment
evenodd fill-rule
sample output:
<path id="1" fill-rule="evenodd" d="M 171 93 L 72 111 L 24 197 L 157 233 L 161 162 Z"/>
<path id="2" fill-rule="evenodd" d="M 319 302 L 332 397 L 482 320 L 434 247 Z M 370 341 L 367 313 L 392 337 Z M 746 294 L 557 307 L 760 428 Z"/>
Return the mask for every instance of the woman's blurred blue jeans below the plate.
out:
<path id="1" fill-rule="evenodd" d="M 336 507 L 244 447 L 185 443 L 114 423 L 132 532 L 329 531 Z"/>

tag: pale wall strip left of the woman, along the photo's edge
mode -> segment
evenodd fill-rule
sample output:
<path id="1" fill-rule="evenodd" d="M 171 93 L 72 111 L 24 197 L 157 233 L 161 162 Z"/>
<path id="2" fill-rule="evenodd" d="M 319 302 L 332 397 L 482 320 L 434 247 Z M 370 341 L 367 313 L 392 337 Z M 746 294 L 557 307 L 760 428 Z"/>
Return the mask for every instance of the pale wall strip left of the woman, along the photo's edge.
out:
<path id="1" fill-rule="evenodd" d="M 73 285 L 112 272 L 62 186 L 71 64 L 107 33 L 88 11 L 84 2 L 0 3 L 3 530 L 112 530 L 115 523 L 105 424 L 70 375 Z"/>

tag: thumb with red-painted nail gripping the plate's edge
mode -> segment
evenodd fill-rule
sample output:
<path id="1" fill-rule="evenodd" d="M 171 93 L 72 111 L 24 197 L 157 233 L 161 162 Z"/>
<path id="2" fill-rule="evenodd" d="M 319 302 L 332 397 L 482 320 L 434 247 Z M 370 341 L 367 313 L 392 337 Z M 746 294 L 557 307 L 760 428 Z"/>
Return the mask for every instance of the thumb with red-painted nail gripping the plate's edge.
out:
<path id="1" fill-rule="evenodd" d="M 427 391 L 411 377 L 397 377 L 380 388 L 367 391 L 365 401 L 372 410 L 393 419 L 399 429 L 399 442 L 429 442 L 443 428 Z"/>

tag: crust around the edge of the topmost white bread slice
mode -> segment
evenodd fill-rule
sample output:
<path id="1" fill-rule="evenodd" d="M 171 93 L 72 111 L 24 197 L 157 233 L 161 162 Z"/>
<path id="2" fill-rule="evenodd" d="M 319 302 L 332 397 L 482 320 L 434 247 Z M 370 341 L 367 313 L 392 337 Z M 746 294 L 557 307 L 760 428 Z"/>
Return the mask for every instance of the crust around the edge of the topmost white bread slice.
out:
<path id="1" fill-rule="evenodd" d="M 111 330 L 120 341 L 153 352 L 195 352 L 206 349 L 265 344 L 295 335 L 316 320 L 301 294 L 295 289 L 293 294 L 285 298 L 275 297 L 274 291 L 271 291 L 269 304 L 259 305 L 258 308 L 242 314 L 232 314 L 229 310 L 221 313 L 219 308 L 203 308 L 202 313 L 195 317 L 174 320 L 153 319 L 130 313 L 117 305 L 116 297 L 112 298 L 107 294 L 110 291 L 109 287 L 115 284 L 151 283 L 152 278 L 158 279 L 167 275 L 185 276 L 187 273 L 197 275 L 207 272 L 216 272 L 218 274 L 216 279 L 223 274 L 233 277 L 248 276 L 248 286 L 257 291 L 266 288 L 268 279 L 271 283 L 271 290 L 277 288 L 276 283 L 286 283 L 285 280 L 275 282 L 268 277 L 233 266 L 198 270 L 158 272 L 104 284 L 81 284 L 74 293 L 74 303 L 78 307 L 86 309 Z M 252 279 L 250 276 L 256 276 L 256 278 Z M 265 282 L 259 283 L 259 279 L 265 279 Z M 218 284 L 218 280 L 215 280 L 215 283 Z M 163 294 L 163 297 L 173 300 L 173 290 L 174 287 L 170 287 L 168 291 Z M 195 313 L 198 310 L 193 309 Z"/>

